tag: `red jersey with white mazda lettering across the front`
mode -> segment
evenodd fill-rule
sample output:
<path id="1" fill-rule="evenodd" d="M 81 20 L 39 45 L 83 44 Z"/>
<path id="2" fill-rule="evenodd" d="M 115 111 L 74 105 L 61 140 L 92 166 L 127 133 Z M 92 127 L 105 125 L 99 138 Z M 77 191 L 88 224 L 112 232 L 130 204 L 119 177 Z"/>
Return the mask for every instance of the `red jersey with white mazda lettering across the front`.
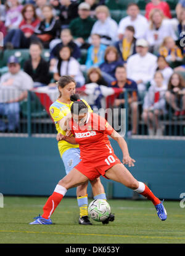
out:
<path id="1" fill-rule="evenodd" d="M 72 133 L 79 144 L 83 162 L 98 161 L 113 152 L 107 136 L 112 132 L 113 128 L 107 123 L 107 120 L 95 113 L 88 113 L 88 118 L 83 126 L 78 126 L 72 119 Z"/>

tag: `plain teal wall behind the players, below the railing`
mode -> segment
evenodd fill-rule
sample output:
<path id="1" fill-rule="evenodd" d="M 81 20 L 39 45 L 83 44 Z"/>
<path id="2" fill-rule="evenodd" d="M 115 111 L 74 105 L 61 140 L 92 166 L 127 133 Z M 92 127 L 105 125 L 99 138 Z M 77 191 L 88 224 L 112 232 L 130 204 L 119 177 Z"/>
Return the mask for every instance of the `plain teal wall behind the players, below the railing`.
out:
<path id="1" fill-rule="evenodd" d="M 121 159 L 118 144 L 111 140 Z M 146 182 L 158 198 L 178 200 L 185 192 L 185 141 L 128 139 L 136 179 Z M 48 196 L 65 170 L 55 138 L 0 138 L 0 192 L 4 195 Z M 133 198 L 133 191 L 101 177 L 105 192 L 113 198 Z M 91 186 L 88 186 L 91 197 Z M 76 188 L 67 196 L 75 196 Z"/>

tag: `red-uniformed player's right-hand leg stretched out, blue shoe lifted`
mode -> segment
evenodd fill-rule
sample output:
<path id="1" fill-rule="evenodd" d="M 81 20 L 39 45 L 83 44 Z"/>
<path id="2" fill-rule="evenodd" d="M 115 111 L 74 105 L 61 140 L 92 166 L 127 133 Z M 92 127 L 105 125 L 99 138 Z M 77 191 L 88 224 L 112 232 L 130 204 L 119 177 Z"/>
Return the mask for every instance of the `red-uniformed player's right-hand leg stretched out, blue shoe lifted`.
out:
<path id="1" fill-rule="evenodd" d="M 158 217 L 165 221 L 167 219 L 167 212 L 163 207 L 162 202 L 152 193 L 152 191 L 147 187 L 146 184 L 138 182 L 128 169 L 123 164 L 115 164 L 112 168 L 105 172 L 107 178 L 120 182 L 128 188 L 140 193 L 141 195 L 147 197 L 155 205 Z"/>

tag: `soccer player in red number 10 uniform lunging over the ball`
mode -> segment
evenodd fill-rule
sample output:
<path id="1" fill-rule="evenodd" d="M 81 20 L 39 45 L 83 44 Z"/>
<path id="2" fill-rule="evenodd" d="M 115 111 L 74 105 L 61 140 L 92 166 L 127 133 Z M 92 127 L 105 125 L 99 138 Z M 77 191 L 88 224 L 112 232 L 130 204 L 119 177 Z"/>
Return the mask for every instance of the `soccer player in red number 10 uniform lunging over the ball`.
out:
<path id="1" fill-rule="evenodd" d="M 167 219 L 167 211 L 163 206 L 163 201 L 160 201 L 146 184 L 136 180 L 123 165 L 129 164 L 129 166 L 133 166 L 135 162 L 130 157 L 125 139 L 107 123 L 105 118 L 95 113 L 89 113 L 88 107 L 82 100 L 78 99 L 73 103 L 71 112 L 72 119 L 67 125 L 67 130 L 69 128 L 70 130 L 67 131 L 63 139 L 72 144 L 79 144 L 82 160 L 59 181 L 54 193 L 44 205 L 43 215 L 36 217 L 36 221 L 33 224 L 52 224 L 50 216 L 54 213 L 55 208 L 59 205 L 67 190 L 77 187 L 87 182 L 87 180 L 94 180 L 101 175 L 107 179 L 120 182 L 146 196 L 154 204 L 158 217 L 165 221 Z M 70 133 L 73 136 L 70 136 Z M 113 152 L 107 135 L 118 142 L 123 152 L 123 164 Z"/>

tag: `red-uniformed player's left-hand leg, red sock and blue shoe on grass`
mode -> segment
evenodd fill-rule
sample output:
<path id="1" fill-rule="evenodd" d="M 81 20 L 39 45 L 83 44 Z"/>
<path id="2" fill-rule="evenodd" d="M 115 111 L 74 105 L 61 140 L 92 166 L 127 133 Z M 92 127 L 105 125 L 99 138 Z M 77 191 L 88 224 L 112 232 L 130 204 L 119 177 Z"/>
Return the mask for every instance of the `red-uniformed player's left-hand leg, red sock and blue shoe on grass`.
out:
<path id="1" fill-rule="evenodd" d="M 78 185 L 86 183 L 87 181 L 88 178 L 85 175 L 73 168 L 62 180 L 59 181 L 54 192 L 47 199 L 46 204 L 43 207 L 43 215 L 38 216 L 36 221 L 33 221 L 33 223 L 30 224 L 52 224 L 50 217 L 62 198 L 65 196 L 67 190 L 69 188 L 78 187 Z"/>

